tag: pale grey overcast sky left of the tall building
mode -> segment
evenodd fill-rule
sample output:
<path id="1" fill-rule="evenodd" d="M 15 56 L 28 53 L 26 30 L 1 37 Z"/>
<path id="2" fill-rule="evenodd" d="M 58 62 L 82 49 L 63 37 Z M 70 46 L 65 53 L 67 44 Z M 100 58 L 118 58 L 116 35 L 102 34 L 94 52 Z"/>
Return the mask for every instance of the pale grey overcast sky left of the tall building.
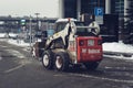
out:
<path id="1" fill-rule="evenodd" d="M 59 0 L 0 0 L 0 15 L 58 18 Z"/>

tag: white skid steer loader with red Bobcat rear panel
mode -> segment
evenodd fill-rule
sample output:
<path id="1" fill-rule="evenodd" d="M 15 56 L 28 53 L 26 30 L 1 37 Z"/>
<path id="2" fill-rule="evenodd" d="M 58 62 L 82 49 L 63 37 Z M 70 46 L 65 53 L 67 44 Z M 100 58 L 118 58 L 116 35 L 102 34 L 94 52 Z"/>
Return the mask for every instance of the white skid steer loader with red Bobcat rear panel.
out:
<path id="1" fill-rule="evenodd" d="M 102 61 L 102 37 L 95 21 L 90 24 L 74 19 L 55 22 L 54 34 L 43 42 L 41 62 L 44 68 L 66 70 L 70 65 L 84 65 L 96 69 Z"/>

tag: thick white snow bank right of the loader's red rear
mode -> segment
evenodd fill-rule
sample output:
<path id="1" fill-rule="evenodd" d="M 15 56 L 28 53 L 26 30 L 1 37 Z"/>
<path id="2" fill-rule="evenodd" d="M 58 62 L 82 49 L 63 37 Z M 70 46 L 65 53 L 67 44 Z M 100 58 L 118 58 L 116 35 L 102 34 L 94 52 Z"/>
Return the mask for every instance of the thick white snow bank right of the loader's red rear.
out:
<path id="1" fill-rule="evenodd" d="M 103 43 L 103 51 L 106 52 L 121 52 L 121 53 L 133 53 L 133 46 L 124 44 L 122 42 Z"/>

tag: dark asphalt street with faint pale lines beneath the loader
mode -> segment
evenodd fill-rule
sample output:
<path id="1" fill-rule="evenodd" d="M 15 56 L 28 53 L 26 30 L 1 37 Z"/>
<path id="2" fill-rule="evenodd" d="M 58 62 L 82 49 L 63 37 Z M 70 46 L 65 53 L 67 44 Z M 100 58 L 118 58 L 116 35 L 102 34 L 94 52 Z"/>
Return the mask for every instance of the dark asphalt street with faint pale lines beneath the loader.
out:
<path id="1" fill-rule="evenodd" d="M 104 57 L 94 72 L 47 70 L 23 47 L 0 41 L 0 88 L 133 88 L 133 61 Z"/>

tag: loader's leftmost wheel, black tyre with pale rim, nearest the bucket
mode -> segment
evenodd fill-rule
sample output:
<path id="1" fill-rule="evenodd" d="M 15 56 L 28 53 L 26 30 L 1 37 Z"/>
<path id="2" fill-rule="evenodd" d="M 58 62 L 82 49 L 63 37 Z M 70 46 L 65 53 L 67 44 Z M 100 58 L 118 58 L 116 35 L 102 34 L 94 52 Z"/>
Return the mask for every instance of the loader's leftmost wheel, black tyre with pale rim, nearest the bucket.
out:
<path id="1" fill-rule="evenodd" d="M 42 65 L 47 69 L 53 68 L 53 53 L 51 51 L 45 51 L 42 55 Z"/>

